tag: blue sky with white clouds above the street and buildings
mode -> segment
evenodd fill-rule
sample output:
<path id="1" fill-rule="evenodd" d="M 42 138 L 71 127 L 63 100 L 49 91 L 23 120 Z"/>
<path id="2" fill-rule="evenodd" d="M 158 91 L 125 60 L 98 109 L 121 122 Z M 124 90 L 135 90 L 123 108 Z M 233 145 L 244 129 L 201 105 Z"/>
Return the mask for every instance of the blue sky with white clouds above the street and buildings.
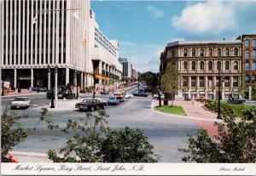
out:
<path id="1" fill-rule="evenodd" d="M 100 30 L 140 72 L 159 71 L 166 44 L 256 33 L 256 1 L 91 1 Z"/>

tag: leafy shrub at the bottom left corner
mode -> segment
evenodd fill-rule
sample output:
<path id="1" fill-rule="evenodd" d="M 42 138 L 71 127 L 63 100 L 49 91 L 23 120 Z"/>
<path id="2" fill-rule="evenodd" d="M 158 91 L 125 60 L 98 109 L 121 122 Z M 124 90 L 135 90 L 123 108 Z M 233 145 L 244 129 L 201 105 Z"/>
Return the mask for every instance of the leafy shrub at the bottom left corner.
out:
<path id="1" fill-rule="evenodd" d="M 19 116 L 14 113 L 9 113 L 7 108 L 3 111 L 1 116 L 1 161 L 2 162 L 12 162 L 11 157 L 9 157 L 9 151 L 13 149 L 16 145 L 19 145 L 20 142 L 24 141 L 29 133 L 32 130 L 36 130 L 39 122 L 47 122 L 49 129 L 58 128 L 58 125 L 55 125 L 51 119 L 49 119 L 47 114 L 47 109 L 42 108 L 41 116 L 38 119 L 38 122 L 35 124 L 34 128 L 22 128 L 20 120 L 27 119 L 28 116 Z"/>

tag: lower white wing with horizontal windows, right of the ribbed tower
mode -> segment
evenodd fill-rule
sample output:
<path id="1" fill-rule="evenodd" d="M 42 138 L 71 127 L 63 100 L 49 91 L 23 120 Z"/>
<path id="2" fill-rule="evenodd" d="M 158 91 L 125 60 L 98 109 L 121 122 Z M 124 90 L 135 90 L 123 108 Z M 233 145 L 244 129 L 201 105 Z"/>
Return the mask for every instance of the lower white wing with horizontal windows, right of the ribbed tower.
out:
<path id="1" fill-rule="evenodd" d="M 96 14 L 90 9 L 89 58 L 87 71 L 96 74 L 96 86 L 119 87 L 122 65 L 119 63 L 119 43 L 110 40 L 99 29 Z M 92 78 L 92 77 L 91 77 Z"/>

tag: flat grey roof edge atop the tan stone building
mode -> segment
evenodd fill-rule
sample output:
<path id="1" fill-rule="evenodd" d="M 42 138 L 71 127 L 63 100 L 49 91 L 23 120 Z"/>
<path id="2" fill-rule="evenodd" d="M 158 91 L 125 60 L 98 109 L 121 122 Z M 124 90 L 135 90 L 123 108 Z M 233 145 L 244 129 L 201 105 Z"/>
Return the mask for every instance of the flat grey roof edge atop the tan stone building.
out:
<path id="1" fill-rule="evenodd" d="M 239 40 L 218 40 L 218 41 L 177 41 L 173 43 L 167 43 L 168 47 L 177 45 L 189 45 L 189 44 L 240 44 Z"/>

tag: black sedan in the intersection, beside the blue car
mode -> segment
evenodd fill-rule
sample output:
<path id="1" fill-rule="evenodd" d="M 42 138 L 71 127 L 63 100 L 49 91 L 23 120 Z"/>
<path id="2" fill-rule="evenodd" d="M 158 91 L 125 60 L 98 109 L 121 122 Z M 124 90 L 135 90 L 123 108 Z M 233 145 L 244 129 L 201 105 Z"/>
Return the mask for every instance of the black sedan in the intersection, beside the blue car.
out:
<path id="1" fill-rule="evenodd" d="M 77 103 L 75 108 L 79 108 L 79 111 L 95 111 L 105 109 L 105 105 L 106 103 L 103 103 L 98 99 L 84 99 L 82 102 Z"/>

